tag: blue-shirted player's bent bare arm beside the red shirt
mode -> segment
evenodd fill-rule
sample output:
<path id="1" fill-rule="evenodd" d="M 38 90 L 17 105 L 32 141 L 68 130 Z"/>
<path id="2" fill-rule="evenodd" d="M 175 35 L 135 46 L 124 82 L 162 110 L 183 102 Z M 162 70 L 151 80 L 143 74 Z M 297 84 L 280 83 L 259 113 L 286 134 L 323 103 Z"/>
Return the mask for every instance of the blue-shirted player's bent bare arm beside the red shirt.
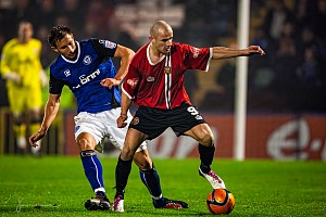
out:
<path id="1" fill-rule="evenodd" d="M 135 52 L 126 47 L 117 44 L 114 58 L 121 58 L 121 65 L 114 78 L 105 78 L 101 85 L 108 88 L 118 86 L 128 72 L 129 63 L 135 55 Z"/>

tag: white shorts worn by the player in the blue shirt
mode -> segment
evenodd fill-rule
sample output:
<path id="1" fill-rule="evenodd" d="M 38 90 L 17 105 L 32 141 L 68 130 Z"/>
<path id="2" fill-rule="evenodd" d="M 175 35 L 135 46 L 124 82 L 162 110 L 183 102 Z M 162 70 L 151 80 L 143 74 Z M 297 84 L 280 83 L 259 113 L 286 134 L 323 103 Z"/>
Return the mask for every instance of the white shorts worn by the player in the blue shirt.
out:
<path id="1" fill-rule="evenodd" d="M 100 113 L 87 113 L 80 112 L 74 117 L 75 120 L 75 139 L 82 132 L 90 133 L 97 144 L 102 141 L 104 137 L 108 137 L 111 143 L 117 149 L 122 150 L 125 141 L 125 137 L 128 127 L 118 128 L 116 126 L 116 118 L 121 114 L 121 107 L 112 108 Z M 131 114 L 128 111 L 128 118 L 126 120 L 129 124 L 133 119 Z M 146 150 L 147 144 L 142 142 L 136 152 Z"/>

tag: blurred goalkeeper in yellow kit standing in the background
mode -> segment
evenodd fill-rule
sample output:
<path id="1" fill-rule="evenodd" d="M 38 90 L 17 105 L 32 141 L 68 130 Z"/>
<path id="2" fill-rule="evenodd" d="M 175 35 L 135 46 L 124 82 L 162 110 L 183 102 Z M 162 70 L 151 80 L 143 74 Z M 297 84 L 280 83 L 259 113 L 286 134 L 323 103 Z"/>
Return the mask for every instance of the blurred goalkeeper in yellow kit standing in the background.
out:
<path id="1" fill-rule="evenodd" d="M 40 128 L 41 86 L 48 82 L 40 63 L 41 41 L 32 37 L 32 23 L 22 21 L 17 38 L 8 41 L 2 49 L 0 67 L 7 79 L 16 144 L 23 153 L 26 153 L 28 127 L 32 132 Z M 40 144 L 32 149 L 32 153 L 38 154 Z"/>

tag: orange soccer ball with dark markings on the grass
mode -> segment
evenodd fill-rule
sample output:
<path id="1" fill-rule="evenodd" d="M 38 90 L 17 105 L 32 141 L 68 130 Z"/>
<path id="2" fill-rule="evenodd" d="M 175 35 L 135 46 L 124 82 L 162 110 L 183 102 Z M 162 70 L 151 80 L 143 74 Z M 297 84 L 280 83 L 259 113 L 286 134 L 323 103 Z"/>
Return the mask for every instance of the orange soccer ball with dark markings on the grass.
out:
<path id="1" fill-rule="evenodd" d="M 234 194 L 226 189 L 214 189 L 206 197 L 208 208 L 214 215 L 229 214 L 235 204 Z"/>

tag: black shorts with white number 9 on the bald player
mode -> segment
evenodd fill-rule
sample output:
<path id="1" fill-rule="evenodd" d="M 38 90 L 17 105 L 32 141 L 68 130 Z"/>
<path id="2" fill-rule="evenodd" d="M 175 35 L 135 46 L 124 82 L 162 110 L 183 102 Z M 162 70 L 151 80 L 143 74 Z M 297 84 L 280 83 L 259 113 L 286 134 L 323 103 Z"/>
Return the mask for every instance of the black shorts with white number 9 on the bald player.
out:
<path id="1" fill-rule="evenodd" d="M 174 110 L 160 110 L 139 106 L 129 128 L 146 133 L 149 140 L 162 135 L 168 127 L 177 137 L 192 127 L 206 123 L 198 110 L 188 103 L 181 104 Z"/>

